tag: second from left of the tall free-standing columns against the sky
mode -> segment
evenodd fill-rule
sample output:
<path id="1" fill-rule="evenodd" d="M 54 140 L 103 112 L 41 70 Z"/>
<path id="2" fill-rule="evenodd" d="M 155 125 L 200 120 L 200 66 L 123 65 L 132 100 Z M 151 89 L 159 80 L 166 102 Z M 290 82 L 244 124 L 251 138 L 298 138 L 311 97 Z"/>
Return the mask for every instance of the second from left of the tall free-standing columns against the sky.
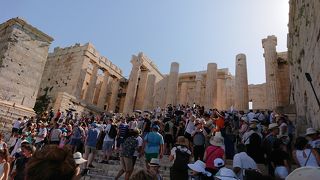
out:
<path id="1" fill-rule="evenodd" d="M 217 101 L 217 64 L 209 63 L 207 66 L 207 80 L 206 80 L 206 109 L 216 107 Z"/>

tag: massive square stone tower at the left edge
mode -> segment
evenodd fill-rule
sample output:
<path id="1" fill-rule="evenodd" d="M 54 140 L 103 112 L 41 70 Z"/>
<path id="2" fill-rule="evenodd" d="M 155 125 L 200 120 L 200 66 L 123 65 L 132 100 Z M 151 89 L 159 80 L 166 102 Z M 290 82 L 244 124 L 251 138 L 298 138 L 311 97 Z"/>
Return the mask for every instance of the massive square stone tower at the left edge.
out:
<path id="1" fill-rule="evenodd" d="M 53 39 L 20 18 L 0 24 L 0 121 L 34 115 L 40 79 Z"/>

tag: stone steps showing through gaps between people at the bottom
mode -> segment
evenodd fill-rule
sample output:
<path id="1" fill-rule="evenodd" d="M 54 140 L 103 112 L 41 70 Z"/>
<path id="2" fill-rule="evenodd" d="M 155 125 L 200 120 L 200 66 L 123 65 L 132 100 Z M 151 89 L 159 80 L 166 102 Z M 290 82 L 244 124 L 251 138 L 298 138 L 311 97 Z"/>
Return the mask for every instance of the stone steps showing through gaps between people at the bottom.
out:
<path id="1" fill-rule="evenodd" d="M 114 177 L 118 174 L 118 171 L 121 169 L 119 160 L 109 160 L 108 164 L 98 163 L 103 159 L 102 151 L 98 151 L 96 154 L 95 160 L 93 162 L 93 166 L 95 168 L 90 168 L 87 175 L 82 177 L 83 180 L 113 180 Z M 164 156 L 160 160 L 160 174 L 162 175 L 164 180 L 170 180 L 170 167 L 172 166 L 172 162 L 169 161 L 168 156 Z M 227 160 L 226 167 L 232 169 L 232 160 Z M 140 169 L 145 169 L 145 159 L 141 157 L 137 159 L 134 172 Z M 264 164 L 258 164 L 259 170 L 263 174 L 267 174 L 268 169 Z M 120 177 L 120 179 L 124 179 L 124 174 Z"/>

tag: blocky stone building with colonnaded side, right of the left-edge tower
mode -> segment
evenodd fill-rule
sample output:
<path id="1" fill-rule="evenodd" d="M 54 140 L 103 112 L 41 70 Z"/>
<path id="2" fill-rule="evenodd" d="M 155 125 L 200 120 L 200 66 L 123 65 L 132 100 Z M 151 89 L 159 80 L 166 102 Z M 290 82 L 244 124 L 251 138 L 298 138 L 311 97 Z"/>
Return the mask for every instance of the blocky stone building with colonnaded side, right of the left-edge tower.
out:
<path id="1" fill-rule="evenodd" d="M 122 71 L 90 43 L 54 48 L 42 76 L 40 94 L 51 98 L 54 109 L 114 112 Z"/>

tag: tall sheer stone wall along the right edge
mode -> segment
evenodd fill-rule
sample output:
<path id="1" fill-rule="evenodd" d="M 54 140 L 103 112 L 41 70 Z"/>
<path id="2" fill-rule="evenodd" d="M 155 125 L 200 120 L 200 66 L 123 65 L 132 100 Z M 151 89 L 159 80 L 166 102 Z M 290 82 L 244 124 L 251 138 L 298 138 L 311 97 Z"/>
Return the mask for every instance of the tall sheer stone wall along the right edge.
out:
<path id="1" fill-rule="evenodd" d="M 320 128 L 320 107 L 305 73 L 320 97 L 320 2 L 290 0 L 288 60 L 297 126 Z"/>

